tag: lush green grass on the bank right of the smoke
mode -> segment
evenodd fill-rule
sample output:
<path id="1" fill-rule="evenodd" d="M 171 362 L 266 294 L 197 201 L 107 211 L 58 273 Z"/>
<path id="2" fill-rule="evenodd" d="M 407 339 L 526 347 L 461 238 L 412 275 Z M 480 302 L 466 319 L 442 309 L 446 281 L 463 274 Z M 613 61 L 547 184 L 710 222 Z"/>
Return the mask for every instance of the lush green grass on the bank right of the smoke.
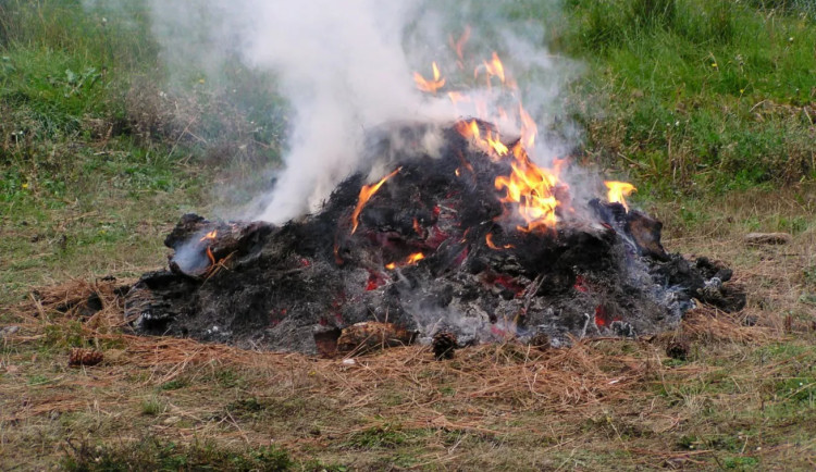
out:
<path id="1" fill-rule="evenodd" d="M 816 175 L 816 23 L 732 1 L 568 2 L 588 151 L 660 195 Z M 809 108 L 807 108 L 809 107 Z M 601 113 L 604 113 L 601 115 Z"/>

